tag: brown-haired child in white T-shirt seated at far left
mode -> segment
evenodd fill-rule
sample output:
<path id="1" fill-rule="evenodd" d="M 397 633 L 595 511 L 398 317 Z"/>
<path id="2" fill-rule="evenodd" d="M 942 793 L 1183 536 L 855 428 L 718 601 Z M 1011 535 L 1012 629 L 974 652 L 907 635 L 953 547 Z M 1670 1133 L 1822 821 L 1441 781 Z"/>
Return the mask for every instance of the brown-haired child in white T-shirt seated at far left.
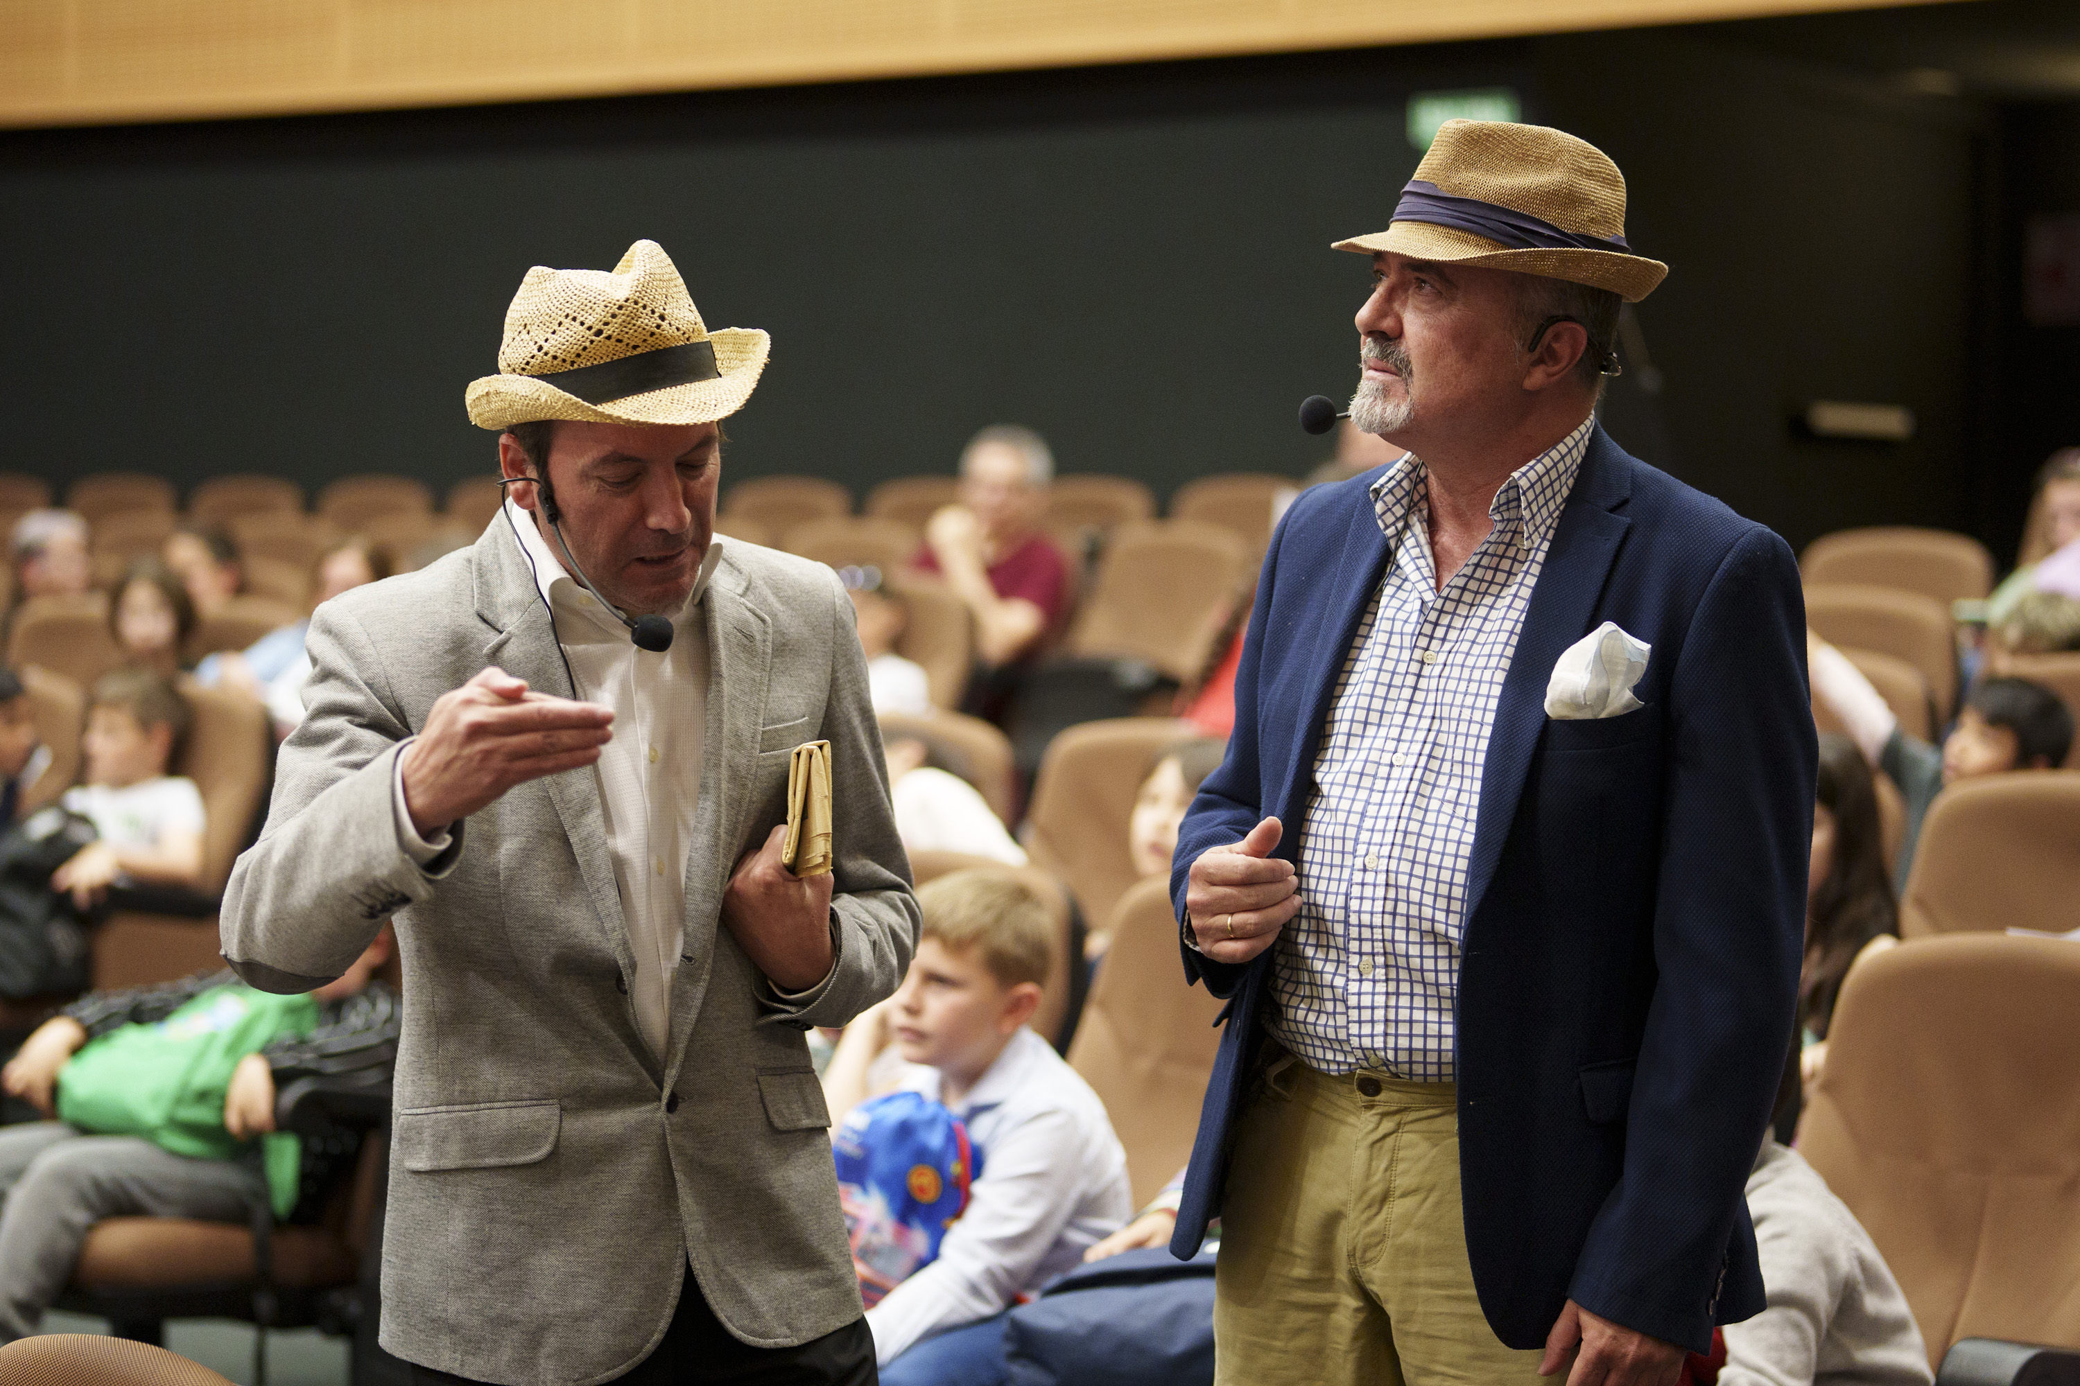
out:
<path id="1" fill-rule="evenodd" d="M 87 783 L 60 802 L 94 823 L 98 842 L 50 877 L 81 910 L 127 881 L 202 889 L 202 792 L 166 773 L 187 721 L 187 700 L 148 669 L 116 669 L 94 686 Z"/>

